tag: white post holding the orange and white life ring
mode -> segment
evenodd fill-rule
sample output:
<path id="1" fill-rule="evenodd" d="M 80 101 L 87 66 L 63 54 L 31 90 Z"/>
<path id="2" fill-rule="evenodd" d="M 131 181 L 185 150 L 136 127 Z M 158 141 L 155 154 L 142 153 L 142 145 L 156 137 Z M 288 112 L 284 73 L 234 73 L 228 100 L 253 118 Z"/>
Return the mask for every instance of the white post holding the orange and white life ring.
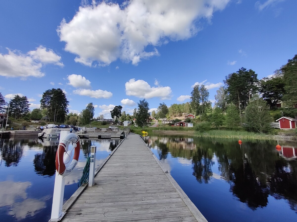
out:
<path id="1" fill-rule="evenodd" d="M 70 131 L 61 131 L 60 143 L 62 142 L 64 137 L 69 133 Z M 56 170 L 52 214 L 50 216 L 49 221 L 59 221 L 66 213 L 66 212 L 62 212 L 64 188 L 65 188 L 65 177 L 63 178 L 61 175 L 59 175 L 58 171 Z"/>

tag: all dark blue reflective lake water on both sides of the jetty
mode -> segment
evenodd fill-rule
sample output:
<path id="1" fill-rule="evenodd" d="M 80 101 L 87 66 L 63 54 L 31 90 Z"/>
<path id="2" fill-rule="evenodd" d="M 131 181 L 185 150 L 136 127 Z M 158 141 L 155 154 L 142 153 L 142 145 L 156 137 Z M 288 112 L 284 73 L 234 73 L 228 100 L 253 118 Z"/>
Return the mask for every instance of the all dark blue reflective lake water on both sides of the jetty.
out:
<path id="1" fill-rule="evenodd" d="M 297 143 L 145 136 L 208 221 L 297 221 Z M 119 140 L 81 139 L 64 201 L 78 188 L 91 145 L 99 165 Z M 0 139 L 0 221 L 48 221 L 59 140 Z M 137 154 L 135 154 L 137 155 Z M 157 191 L 156 191 L 157 192 Z"/>

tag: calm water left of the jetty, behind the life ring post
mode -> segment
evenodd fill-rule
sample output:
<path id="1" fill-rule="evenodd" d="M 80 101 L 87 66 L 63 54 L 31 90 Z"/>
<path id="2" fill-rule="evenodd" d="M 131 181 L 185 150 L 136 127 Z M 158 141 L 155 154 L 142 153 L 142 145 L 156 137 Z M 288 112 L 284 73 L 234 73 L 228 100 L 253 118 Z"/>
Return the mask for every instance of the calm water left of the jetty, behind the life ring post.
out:
<path id="1" fill-rule="evenodd" d="M 78 189 L 91 145 L 97 146 L 99 165 L 119 140 L 81 139 L 78 165 L 66 177 L 64 202 Z M 55 183 L 55 157 L 59 139 L 0 139 L 0 221 L 50 219 Z"/>

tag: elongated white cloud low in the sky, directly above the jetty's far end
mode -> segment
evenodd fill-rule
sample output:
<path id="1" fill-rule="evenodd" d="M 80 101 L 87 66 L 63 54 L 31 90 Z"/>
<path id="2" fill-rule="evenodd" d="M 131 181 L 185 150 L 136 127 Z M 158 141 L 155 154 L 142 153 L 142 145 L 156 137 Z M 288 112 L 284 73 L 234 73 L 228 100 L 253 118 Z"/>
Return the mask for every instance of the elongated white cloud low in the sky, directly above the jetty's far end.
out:
<path id="1" fill-rule="evenodd" d="M 151 87 L 149 83 L 141 79 L 137 81 L 135 81 L 135 79 L 130 79 L 125 83 L 125 87 L 127 96 L 136 96 L 138 98 L 146 99 L 160 97 L 161 100 L 170 99 L 172 97 L 172 91 L 169 86 Z"/>

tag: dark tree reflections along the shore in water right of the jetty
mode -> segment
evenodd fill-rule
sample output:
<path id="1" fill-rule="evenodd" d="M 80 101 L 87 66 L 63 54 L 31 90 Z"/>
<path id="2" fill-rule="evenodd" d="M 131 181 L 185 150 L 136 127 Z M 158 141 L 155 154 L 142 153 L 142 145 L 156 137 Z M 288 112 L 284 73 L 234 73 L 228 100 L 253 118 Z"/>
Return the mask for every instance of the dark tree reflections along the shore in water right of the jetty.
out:
<path id="1" fill-rule="evenodd" d="M 160 160 L 169 153 L 173 158 L 192 160 L 192 175 L 199 183 L 207 184 L 213 178 L 216 160 L 230 192 L 252 210 L 267 206 L 271 195 L 288 200 L 297 213 L 297 161 L 280 157 L 274 141 L 245 141 L 241 146 L 227 139 L 176 136 L 151 136 L 145 141 L 150 147 L 158 147 Z"/>

